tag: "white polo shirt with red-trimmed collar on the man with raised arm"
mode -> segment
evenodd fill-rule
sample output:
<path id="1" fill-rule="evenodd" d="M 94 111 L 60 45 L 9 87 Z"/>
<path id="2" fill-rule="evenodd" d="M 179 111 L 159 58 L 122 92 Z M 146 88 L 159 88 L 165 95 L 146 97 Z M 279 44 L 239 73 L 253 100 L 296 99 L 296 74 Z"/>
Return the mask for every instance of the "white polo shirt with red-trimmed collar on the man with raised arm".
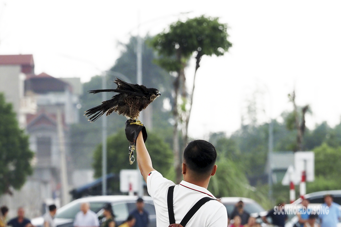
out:
<path id="1" fill-rule="evenodd" d="M 198 185 L 181 181 L 175 184 L 164 178 L 159 172 L 152 171 L 147 176 L 147 189 L 153 198 L 156 211 L 157 227 L 168 227 L 167 193 L 170 186 L 174 187 L 173 207 L 175 223 L 179 224 L 194 204 L 204 197 L 215 198 L 207 189 Z M 217 200 L 206 202 L 190 219 L 186 227 L 227 227 L 227 211 Z"/>

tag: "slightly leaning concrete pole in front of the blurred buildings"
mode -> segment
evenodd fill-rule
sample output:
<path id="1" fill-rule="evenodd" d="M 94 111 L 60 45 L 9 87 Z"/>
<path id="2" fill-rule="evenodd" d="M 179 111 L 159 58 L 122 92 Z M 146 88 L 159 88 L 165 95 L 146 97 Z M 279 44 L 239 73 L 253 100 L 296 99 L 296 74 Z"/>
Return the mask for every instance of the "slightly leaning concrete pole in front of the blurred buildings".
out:
<path id="1" fill-rule="evenodd" d="M 63 130 L 63 121 L 61 111 L 57 109 L 57 131 L 59 141 L 59 152 L 60 152 L 60 178 L 62 186 L 62 206 L 69 202 L 69 185 L 68 185 L 68 174 L 66 172 L 66 157 L 65 157 L 65 138 Z"/>

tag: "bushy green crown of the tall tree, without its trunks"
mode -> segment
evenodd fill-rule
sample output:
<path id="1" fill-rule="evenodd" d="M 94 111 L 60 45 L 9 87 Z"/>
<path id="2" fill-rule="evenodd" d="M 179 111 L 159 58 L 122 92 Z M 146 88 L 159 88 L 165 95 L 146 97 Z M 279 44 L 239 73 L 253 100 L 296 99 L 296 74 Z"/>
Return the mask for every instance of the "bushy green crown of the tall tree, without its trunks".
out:
<path id="1" fill-rule="evenodd" d="M 150 45 L 161 56 L 157 63 L 166 70 L 179 71 L 193 52 L 199 59 L 203 55 L 223 55 L 232 44 L 227 40 L 227 24 L 218 19 L 202 15 L 185 22 L 179 20 L 167 32 L 156 35 Z"/>

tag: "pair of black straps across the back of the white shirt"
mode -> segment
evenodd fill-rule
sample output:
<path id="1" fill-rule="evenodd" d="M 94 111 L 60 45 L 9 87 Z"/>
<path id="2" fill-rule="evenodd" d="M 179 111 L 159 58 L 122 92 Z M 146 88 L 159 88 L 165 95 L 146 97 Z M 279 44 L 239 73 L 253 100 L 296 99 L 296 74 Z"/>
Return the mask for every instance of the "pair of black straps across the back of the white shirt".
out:
<path id="1" fill-rule="evenodd" d="M 170 186 L 168 188 L 168 193 L 167 193 L 167 207 L 168 207 L 168 217 L 169 217 L 169 224 L 175 224 L 175 217 L 174 217 L 174 208 L 173 208 L 173 192 L 174 192 L 174 187 Z M 200 199 L 199 201 L 194 204 L 194 206 L 187 212 L 187 214 L 182 218 L 180 225 L 185 227 L 189 220 L 193 217 L 193 215 L 209 200 L 215 200 L 210 197 L 204 197 Z"/>

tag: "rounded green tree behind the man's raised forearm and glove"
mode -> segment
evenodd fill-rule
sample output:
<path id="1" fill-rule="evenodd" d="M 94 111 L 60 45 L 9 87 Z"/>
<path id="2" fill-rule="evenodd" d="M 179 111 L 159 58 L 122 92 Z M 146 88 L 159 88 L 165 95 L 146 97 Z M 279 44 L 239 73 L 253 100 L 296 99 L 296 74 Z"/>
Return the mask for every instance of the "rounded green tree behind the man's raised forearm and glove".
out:
<path id="1" fill-rule="evenodd" d="M 129 143 L 125 137 L 124 130 L 119 130 L 107 139 L 107 168 L 108 173 L 119 173 L 121 169 L 135 169 L 136 164 L 129 164 Z M 150 154 L 153 168 L 164 176 L 168 174 L 173 163 L 173 152 L 169 145 L 160 137 L 148 132 L 146 147 Z M 102 145 L 98 145 L 93 153 L 93 168 L 95 177 L 102 176 Z"/>

